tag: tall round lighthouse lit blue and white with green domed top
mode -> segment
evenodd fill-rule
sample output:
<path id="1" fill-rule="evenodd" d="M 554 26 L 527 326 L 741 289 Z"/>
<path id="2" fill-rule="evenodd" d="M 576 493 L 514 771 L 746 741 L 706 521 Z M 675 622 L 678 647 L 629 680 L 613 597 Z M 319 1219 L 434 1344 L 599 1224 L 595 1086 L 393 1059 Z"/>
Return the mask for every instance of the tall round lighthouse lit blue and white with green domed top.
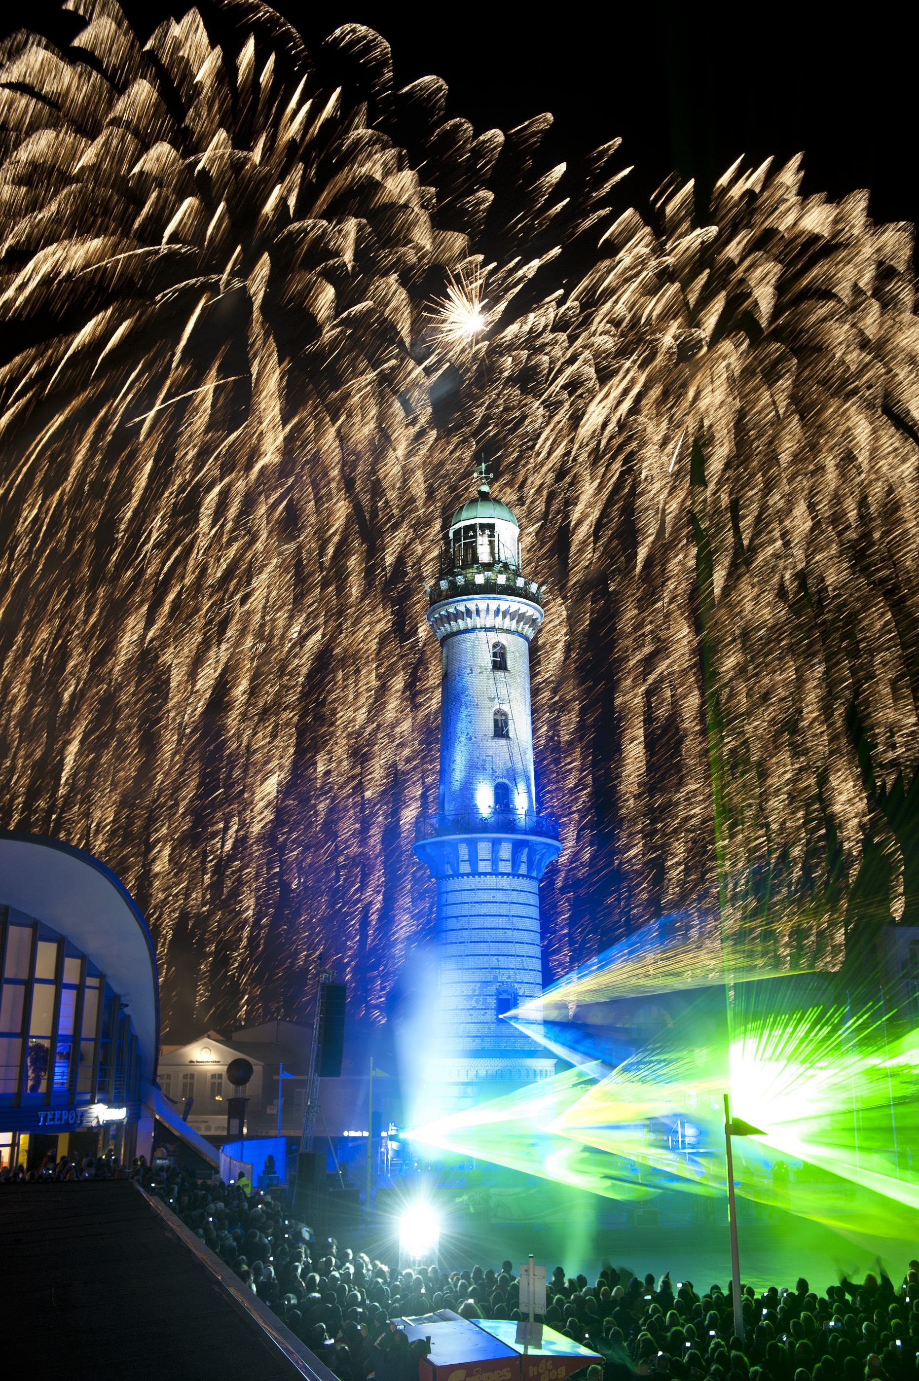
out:
<path id="1" fill-rule="evenodd" d="M 437 881 L 437 994 L 424 1052 L 428 1108 L 455 1112 L 554 1074 L 504 1015 L 542 993 L 539 880 L 558 822 L 536 800 L 529 645 L 542 590 L 520 529 L 485 481 L 456 510 L 428 592 L 441 646 L 437 813 L 415 852 Z"/>

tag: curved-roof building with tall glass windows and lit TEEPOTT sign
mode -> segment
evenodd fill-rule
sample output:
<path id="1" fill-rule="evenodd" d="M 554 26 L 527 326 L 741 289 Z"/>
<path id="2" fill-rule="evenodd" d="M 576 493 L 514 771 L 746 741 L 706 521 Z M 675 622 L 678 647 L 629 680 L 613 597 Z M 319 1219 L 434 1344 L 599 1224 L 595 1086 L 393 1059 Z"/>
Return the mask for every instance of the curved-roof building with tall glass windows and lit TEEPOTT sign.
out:
<path id="1" fill-rule="evenodd" d="M 117 878 L 82 851 L 0 836 L 0 1164 L 109 1142 L 133 1156 L 158 1026 L 149 934 Z"/>

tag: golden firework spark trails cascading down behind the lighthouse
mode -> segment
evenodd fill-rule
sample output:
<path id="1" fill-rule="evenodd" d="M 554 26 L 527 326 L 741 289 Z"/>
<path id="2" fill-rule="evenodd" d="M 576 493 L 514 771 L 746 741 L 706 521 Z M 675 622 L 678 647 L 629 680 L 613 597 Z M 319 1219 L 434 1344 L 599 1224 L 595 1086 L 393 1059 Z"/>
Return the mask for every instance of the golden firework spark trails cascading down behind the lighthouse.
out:
<path id="1" fill-rule="evenodd" d="M 832 949 L 865 837 L 913 905 L 909 229 L 797 163 L 731 168 L 702 228 L 665 189 L 655 229 L 609 214 L 615 141 L 544 170 L 549 117 L 445 120 L 359 26 L 307 55 L 231 7 L 236 54 L 68 7 L 68 50 L 0 52 L 4 823 L 124 878 L 167 1018 L 182 964 L 199 1023 L 293 1016 L 319 949 L 381 1015 L 433 907 L 420 584 L 484 445 L 553 592 L 554 971 L 753 859 Z M 445 363 L 464 275 L 486 331 Z"/>

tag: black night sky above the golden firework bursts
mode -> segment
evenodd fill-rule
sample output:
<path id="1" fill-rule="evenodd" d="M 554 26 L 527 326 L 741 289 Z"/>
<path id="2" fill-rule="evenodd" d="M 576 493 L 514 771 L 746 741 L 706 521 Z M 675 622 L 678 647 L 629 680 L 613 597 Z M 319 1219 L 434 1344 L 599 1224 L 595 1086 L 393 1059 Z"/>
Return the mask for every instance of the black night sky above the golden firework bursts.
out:
<path id="1" fill-rule="evenodd" d="M 75 17 L 61 21 L 55 8 L 44 0 L 15 7 L 32 26 L 73 32 Z M 187 4 L 127 0 L 124 8 L 146 37 Z M 806 192 L 869 186 L 876 220 L 919 214 L 916 50 L 905 4 L 279 0 L 276 8 L 311 47 L 347 21 L 377 29 L 392 46 L 397 81 L 435 72 L 451 87 L 448 113 L 477 128 L 551 110 L 553 162 L 622 135 L 638 204 L 674 166 L 712 181 L 739 155 L 759 162 L 803 149 Z M 213 4 L 200 10 L 210 22 Z"/>

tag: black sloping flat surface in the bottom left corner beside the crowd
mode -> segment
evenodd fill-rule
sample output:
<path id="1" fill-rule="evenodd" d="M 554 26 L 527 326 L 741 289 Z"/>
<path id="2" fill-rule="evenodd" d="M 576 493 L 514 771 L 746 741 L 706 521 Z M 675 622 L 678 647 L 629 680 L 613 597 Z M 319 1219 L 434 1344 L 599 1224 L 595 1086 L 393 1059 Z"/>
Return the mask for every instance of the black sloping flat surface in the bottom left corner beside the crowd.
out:
<path id="1" fill-rule="evenodd" d="M 234 1301 L 182 1230 L 127 1181 L 4 1185 L 7 1355 L 70 1381 L 323 1381 L 325 1369 L 285 1355 L 257 1304 Z"/>

